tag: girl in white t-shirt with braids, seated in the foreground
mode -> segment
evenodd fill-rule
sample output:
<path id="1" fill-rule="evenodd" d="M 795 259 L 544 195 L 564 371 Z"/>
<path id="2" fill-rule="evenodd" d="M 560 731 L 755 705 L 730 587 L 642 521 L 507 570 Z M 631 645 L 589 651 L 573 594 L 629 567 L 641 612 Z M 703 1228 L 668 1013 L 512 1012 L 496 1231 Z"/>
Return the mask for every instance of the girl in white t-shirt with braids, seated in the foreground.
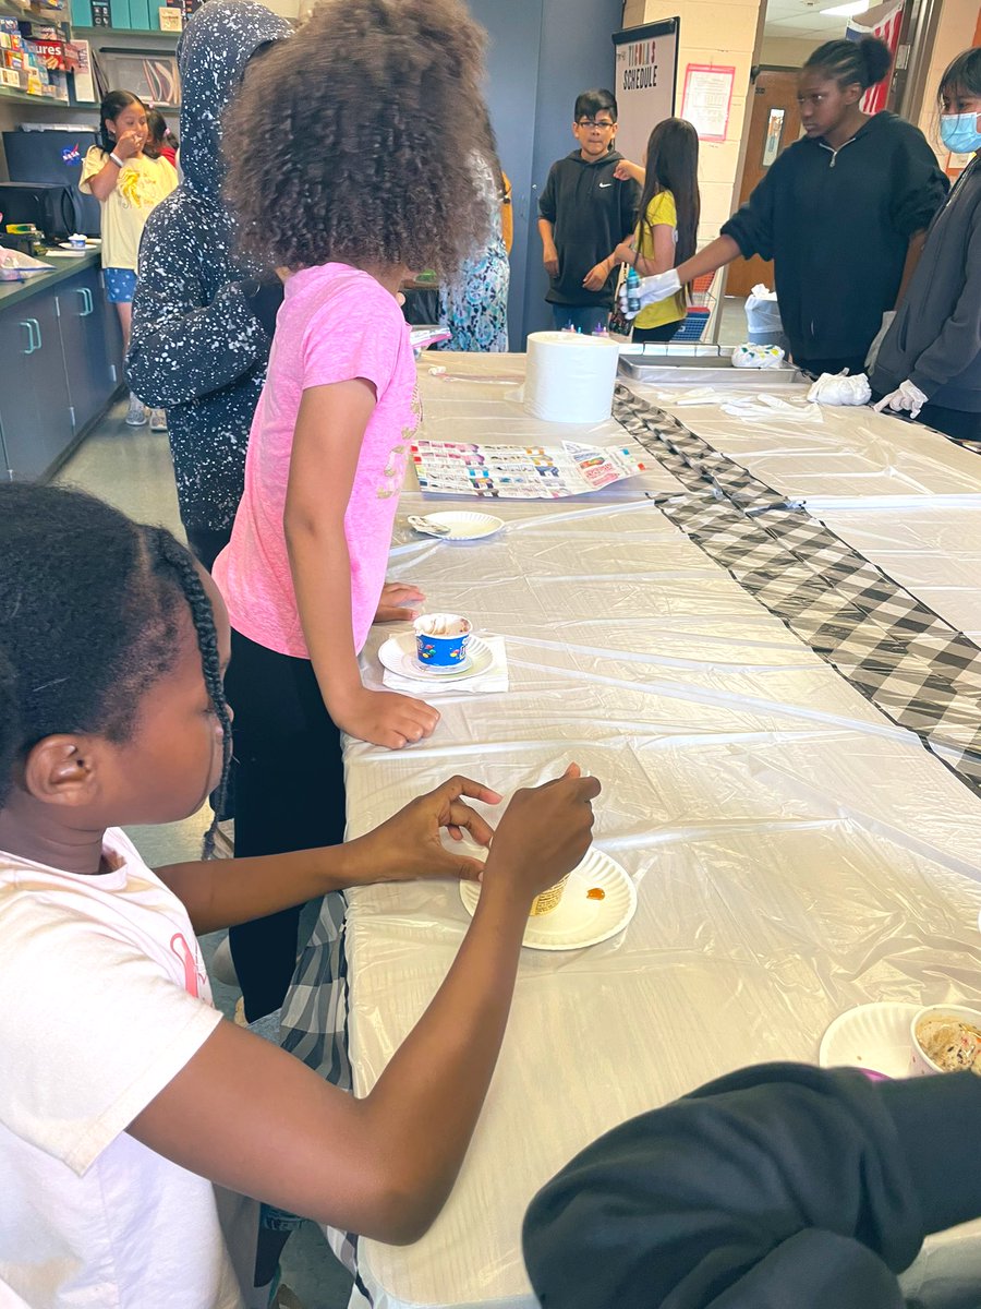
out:
<path id="1" fill-rule="evenodd" d="M 196 933 L 375 880 L 472 878 L 441 829 L 489 844 L 462 797 L 500 797 L 454 778 L 347 846 L 150 872 L 119 827 L 181 819 L 222 784 L 228 658 L 221 598 L 170 533 L 0 487 L 5 1306 L 241 1309 L 242 1196 L 416 1240 L 480 1113 L 531 899 L 589 846 L 594 779 L 572 764 L 518 792 L 416 1029 L 365 1098 L 320 1081 L 221 1020 Z"/>

